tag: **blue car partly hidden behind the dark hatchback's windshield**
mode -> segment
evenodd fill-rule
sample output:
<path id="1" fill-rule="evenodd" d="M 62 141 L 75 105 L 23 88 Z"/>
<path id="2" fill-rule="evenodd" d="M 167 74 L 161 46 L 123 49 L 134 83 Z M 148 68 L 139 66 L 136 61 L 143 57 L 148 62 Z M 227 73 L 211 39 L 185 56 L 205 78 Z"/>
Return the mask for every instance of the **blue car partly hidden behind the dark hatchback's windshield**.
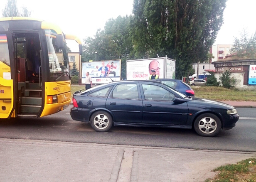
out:
<path id="1" fill-rule="evenodd" d="M 156 79 L 155 81 L 161 81 L 163 84 L 166 84 L 170 87 L 172 87 L 172 89 L 177 90 L 180 93 L 183 93 L 186 96 L 194 96 L 194 90 L 191 89 L 191 87 L 184 83 L 181 80 L 177 80 L 177 79 Z"/>

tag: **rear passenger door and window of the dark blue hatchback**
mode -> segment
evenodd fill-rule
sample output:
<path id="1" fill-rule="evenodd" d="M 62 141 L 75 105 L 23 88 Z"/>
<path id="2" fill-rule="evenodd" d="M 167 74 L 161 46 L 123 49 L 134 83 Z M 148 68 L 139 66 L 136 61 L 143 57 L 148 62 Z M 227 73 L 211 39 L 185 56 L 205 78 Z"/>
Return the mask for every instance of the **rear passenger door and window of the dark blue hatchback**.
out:
<path id="1" fill-rule="evenodd" d="M 138 84 L 117 84 L 106 101 L 115 122 L 141 123 L 142 99 Z"/>

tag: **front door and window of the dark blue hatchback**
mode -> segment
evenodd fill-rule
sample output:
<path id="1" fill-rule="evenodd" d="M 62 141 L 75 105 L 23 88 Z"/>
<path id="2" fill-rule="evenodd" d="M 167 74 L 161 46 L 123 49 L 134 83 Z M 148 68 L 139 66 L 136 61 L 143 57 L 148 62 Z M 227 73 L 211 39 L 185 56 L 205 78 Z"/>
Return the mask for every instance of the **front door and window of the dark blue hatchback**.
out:
<path id="1" fill-rule="evenodd" d="M 184 125 L 187 103 L 174 103 L 175 94 L 156 84 L 140 84 L 143 98 L 142 123 Z"/>

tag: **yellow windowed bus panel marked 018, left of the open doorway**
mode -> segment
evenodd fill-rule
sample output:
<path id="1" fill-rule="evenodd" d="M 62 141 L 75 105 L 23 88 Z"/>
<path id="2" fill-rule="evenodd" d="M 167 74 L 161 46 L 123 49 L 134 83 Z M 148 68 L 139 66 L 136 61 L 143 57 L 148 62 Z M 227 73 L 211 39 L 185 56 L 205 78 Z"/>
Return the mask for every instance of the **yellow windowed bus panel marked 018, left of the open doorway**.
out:
<path id="1" fill-rule="evenodd" d="M 0 118 L 10 118 L 15 109 L 15 61 L 11 32 L 0 32 Z"/>

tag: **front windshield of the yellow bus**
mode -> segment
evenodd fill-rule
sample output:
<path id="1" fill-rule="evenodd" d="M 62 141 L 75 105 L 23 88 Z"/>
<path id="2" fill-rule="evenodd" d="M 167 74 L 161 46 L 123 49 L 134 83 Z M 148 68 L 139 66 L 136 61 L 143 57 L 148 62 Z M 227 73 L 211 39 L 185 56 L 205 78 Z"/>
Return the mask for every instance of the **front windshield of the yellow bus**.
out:
<path id="1" fill-rule="evenodd" d="M 69 73 L 69 63 L 66 48 L 60 49 L 56 46 L 56 32 L 54 30 L 45 30 L 50 76 L 56 77 L 59 74 Z M 65 45 L 65 44 L 64 44 Z"/>

